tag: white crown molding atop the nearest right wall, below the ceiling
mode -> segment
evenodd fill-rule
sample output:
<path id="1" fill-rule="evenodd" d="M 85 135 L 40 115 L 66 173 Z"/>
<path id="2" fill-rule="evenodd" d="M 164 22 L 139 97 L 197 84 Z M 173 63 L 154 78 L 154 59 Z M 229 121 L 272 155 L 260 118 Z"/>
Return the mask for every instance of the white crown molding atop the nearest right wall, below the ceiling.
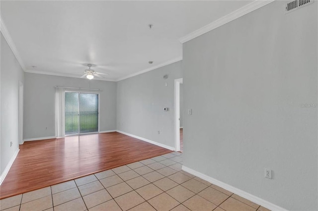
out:
<path id="1" fill-rule="evenodd" d="M 212 23 L 209 23 L 208 25 L 203 26 L 202 28 L 195 30 L 193 32 L 191 32 L 190 34 L 181 37 L 179 39 L 180 43 L 185 43 L 188 42 L 202 34 L 205 34 L 209 31 L 212 31 L 213 29 L 216 29 L 224 24 L 227 24 L 229 22 L 231 22 L 232 20 L 235 20 L 249 12 L 252 12 L 262 6 L 265 6 L 266 4 L 269 4 L 271 2 L 273 2 L 274 0 L 254 0 L 251 3 L 217 19 L 216 21 L 213 21 Z"/>

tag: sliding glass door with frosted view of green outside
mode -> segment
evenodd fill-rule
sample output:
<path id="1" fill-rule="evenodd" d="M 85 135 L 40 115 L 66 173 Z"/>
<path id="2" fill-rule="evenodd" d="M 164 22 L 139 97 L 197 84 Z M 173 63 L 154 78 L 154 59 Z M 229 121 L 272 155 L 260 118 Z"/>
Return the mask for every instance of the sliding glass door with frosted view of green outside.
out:
<path id="1" fill-rule="evenodd" d="M 65 135 L 98 132 L 98 94 L 65 92 Z"/>

